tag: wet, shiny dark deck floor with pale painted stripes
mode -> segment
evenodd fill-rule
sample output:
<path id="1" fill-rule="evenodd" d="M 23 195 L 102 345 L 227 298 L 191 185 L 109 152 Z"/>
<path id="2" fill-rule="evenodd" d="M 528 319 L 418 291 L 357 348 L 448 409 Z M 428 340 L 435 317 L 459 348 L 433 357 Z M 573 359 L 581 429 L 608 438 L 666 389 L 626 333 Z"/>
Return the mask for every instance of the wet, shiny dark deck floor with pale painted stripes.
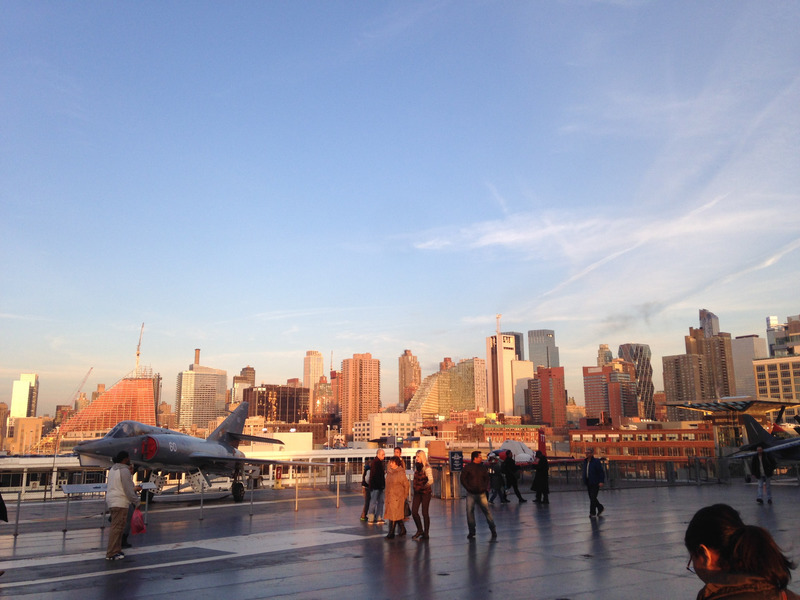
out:
<path id="1" fill-rule="evenodd" d="M 797 483 L 773 486 L 775 503 L 758 505 L 755 487 L 731 485 L 601 492 L 591 519 L 585 493 L 551 494 L 551 504 L 493 507 L 498 541 L 480 514 L 466 539 L 464 500 L 431 502 L 431 538 L 385 540 L 388 527 L 362 523 L 360 495 L 260 491 L 250 504 L 230 499 L 160 504 L 147 533 L 121 561 L 104 560 L 108 528 L 102 502 L 23 505 L 20 535 L 0 524 L 0 596 L 92 600 L 163 598 L 528 598 L 572 600 L 694 598 L 701 582 L 685 569 L 683 534 L 694 512 L 727 502 L 745 522 L 769 529 L 800 558 Z M 532 496 L 526 495 L 529 500 Z M 250 514 L 252 511 L 252 515 Z M 800 591 L 800 573 L 791 589 Z"/>

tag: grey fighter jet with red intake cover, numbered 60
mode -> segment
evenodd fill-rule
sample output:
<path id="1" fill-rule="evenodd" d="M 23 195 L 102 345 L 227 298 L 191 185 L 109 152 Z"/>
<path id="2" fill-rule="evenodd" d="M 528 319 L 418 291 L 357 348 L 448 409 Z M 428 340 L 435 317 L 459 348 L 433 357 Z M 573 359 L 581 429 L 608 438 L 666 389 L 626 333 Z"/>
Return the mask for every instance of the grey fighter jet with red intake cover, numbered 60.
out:
<path id="1" fill-rule="evenodd" d="M 120 421 L 99 440 L 81 442 L 74 448 L 81 466 L 108 468 L 121 451 L 128 452 L 133 464 L 146 471 L 146 479 L 154 472 L 161 473 L 161 485 L 166 473 L 188 473 L 195 489 L 209 484 L 209 475 L 233 479 L 231 493 L 236 502 L 244 499 L 242 475 L 245 465 L 295 465 L 330 467 L 326 463 L 247 458 L 239 449 L 241 441 L 268 444 L 283 442 L 273 438 L 242 433 L 247 418 L 248 403 L 236 410 L 205 440 L 164 427 L 145 425 L 137 421 Z"/>

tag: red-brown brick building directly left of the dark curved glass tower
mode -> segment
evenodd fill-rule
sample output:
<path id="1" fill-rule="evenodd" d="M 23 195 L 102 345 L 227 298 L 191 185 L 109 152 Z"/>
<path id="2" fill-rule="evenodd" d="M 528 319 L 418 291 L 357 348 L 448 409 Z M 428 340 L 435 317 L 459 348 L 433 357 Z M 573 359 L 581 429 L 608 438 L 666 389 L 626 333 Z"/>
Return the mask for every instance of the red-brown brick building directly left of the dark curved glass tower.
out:
<path id="1" fill-rule="evenodd" d="M 587 417 L 606 415 L 617 427 L 623 417 L 638 416 L 633 363 L 617 358 L 603 366 L 583 367 L 583 393 Z"/>

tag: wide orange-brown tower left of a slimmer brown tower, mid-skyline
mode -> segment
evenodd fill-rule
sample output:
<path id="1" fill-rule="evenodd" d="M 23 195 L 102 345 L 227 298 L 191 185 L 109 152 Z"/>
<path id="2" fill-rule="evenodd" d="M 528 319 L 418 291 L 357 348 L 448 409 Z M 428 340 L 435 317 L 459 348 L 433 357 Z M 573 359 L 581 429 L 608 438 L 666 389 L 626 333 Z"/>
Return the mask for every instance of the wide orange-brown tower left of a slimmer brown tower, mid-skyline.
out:
<path id="1" fill-rule="evenodd" d="M 342 361 L 340 379 L 342 433 L 353 436 L 353 424 L 381 410 L 381 361 L 369 353 Z"/>

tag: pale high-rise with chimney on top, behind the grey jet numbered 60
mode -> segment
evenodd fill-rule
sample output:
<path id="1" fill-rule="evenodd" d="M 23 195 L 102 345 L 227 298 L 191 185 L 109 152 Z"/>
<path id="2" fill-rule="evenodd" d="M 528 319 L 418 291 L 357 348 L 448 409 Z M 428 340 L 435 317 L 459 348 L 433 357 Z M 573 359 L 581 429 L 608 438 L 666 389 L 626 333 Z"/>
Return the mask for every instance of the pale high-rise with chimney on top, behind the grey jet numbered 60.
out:
<path id="1" fill-rule="evenodd" d="M 200 428 L 225 415 L 228 372 L 200 365 L 200 349 L 194 351 L 194 363 L 178 374 L 175 389 L 175 412 L 180 427 Z"/>

